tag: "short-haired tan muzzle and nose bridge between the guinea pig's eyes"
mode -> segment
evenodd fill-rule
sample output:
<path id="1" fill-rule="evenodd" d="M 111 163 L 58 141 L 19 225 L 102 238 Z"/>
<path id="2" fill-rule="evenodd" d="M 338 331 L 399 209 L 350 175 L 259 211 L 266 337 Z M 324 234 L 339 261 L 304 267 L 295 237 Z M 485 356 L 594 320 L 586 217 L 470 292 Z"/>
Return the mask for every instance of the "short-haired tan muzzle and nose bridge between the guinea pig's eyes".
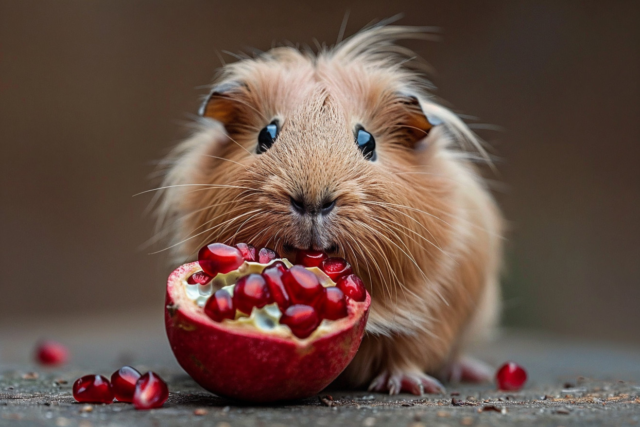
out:
<path id="1" fill-rule="evenodd" d="M 252 205 L 263 209 L 255 227 L 270 228 L 266 239 L 285 252 L 337 251 L 353 207 L 367 192 L 367 166 L 345 112 L 324 88 L 312 88 L 282 122 L 273 145 L 247 168 L 243 185 L 259 183 Z"/>

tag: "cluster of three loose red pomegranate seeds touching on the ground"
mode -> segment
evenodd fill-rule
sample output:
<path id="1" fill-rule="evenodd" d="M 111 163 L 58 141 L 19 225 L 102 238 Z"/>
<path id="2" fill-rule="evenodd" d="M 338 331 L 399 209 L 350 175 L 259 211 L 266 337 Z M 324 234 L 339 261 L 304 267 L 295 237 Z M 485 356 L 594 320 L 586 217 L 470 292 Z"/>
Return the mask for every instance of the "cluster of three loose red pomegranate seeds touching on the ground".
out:
<path id="1" fill-rule="evenodd" d="M 73 386 L 74 398 L 84 403 L 133 403 L 136 409 L 161 407 L 169 397 L 166 383 L 154 372 L 141 375 L 134 367 L 123 366 L 111 375 L 85 375 Z"/>

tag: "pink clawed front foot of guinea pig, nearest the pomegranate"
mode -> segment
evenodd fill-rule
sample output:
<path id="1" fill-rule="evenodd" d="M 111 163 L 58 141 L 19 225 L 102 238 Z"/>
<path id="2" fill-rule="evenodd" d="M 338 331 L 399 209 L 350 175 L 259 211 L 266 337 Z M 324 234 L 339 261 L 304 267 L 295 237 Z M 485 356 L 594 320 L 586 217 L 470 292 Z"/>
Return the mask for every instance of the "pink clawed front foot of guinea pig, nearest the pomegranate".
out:
<path id="1" fill-rule="evenodd" d="M 424 393 L 444 393 L 444 387 L 433 376 L 420 371 L 383 371 L 373 379 L 369 391 L 407 392 L 422 396 Z"/>

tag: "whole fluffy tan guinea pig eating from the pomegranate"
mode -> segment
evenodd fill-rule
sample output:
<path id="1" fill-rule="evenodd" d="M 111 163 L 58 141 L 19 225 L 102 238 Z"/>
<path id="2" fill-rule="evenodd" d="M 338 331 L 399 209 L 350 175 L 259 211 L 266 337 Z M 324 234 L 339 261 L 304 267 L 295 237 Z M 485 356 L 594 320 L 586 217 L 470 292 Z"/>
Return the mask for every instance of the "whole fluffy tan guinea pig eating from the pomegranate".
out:
<path id="1" fill-rule="evenodd" d="M 424 36 L 378 25 L 224 65 L 166 159 L 158 209 L 180 262 L 211 241 L 348 259 L 372 304 L 339 381 L 392 394 L 487 380 L 463 352 L 499 311 L 502 217 L 474 166 L 486 153 L 396 44 Z"/>

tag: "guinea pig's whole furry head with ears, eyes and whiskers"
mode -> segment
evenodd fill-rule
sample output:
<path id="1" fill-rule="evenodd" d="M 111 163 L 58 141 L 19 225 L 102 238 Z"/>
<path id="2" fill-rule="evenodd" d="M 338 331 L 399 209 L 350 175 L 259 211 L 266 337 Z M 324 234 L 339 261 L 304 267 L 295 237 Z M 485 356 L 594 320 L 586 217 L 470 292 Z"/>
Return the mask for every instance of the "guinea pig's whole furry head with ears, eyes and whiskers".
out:
<path id="1" fill-rule="evenodd" d="M 436 124 L 459 119 L 376 34 L 223 68 L 169 157 L 159 211 L 180 261 L 210 241 L 314 248 L 346 257 L 375 296 L 446 257 L 454 152 Z"/>

